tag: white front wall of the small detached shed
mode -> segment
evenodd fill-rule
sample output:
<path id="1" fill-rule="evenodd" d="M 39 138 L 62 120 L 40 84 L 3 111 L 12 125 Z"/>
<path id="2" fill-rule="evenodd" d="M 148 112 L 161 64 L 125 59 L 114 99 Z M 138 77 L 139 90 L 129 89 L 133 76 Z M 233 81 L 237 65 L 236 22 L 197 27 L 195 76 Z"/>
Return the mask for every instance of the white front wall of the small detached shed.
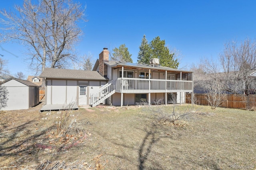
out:
<path id="1" fill-rule="evenodd" d="M 8 102 L 7 102 L 7 107 L 2 108 L 2 110 L 18 110 L 18 109 L 29 108 L 28 107 L 28 86 L 6 87 L 6 88 L 9 92 Z"/>

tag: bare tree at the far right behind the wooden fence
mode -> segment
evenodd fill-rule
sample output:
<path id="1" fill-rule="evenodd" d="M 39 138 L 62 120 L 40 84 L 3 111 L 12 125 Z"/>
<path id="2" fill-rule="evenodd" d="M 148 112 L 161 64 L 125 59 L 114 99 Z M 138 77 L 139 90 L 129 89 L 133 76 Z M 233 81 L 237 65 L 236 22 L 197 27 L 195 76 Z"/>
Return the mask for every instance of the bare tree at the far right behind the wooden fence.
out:
<path id="1" fill-rule="evenodd" d="M 220 54 L 220 64 L 224 70 L 226 89 L 233 93 L 250 94 L 256 90 L 256 41 L 245 39 L 240 43 L 228 42 Z"/>

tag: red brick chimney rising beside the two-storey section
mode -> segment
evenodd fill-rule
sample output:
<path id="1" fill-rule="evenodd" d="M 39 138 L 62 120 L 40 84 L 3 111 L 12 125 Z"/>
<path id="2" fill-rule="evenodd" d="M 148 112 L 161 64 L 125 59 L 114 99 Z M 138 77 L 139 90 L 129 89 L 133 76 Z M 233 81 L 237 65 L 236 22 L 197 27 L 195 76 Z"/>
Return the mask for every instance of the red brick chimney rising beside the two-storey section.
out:
<path id="1" fill-rule="evenodd" d="M 109 51 L 108 48 L 103 48 L 103 51 L 99 55 L 99 73 L 107 77 L 108 75 L 108 67 L 104 62 L 108 62 L 109 59 Z"/>

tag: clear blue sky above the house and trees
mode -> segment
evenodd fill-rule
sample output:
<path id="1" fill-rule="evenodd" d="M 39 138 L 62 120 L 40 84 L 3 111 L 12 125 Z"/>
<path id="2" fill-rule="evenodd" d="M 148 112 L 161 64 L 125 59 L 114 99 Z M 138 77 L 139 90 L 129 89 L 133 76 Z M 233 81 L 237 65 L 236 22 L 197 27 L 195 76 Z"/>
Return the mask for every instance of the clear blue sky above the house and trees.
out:
<path id="1" fill-rule="evenodd" d="M 22 0 L 1 1 L 0 8 L 12 8 Z M 137 62 L 143 35 L 148 42 L 159 36 L 166 45 L 180 50 L 180 68 L 198 63 L 202 57 L 217 58 L 224 43 L 256 35 L 255 0 L 80 0 L 86 5 L 88 22 L 76 46 L 78 56 L 91 53 L 98 58 L 104 47 L 110 50 L 126 44 Z M 22 45 L 1 44 L 17 55 L 0 49 L 8 59 L 11 74 L 33 75 L 22 55 Z"/>

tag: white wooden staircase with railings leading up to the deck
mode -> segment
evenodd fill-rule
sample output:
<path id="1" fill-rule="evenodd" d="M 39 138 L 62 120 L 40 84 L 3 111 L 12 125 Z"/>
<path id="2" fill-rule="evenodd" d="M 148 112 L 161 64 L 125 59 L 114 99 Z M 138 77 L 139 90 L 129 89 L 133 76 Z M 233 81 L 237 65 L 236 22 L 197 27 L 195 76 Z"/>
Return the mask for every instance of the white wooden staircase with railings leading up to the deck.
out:
<path id="1" fill-rule="evenodd" d="M 90 106 L 94 107 L 101 103 L 104 103 L 104 100 L 112 96 L 116 92 L 116 81 L 111 80 L 108 84 L 102 86 L 96 93 L 90 96 Z"/>

